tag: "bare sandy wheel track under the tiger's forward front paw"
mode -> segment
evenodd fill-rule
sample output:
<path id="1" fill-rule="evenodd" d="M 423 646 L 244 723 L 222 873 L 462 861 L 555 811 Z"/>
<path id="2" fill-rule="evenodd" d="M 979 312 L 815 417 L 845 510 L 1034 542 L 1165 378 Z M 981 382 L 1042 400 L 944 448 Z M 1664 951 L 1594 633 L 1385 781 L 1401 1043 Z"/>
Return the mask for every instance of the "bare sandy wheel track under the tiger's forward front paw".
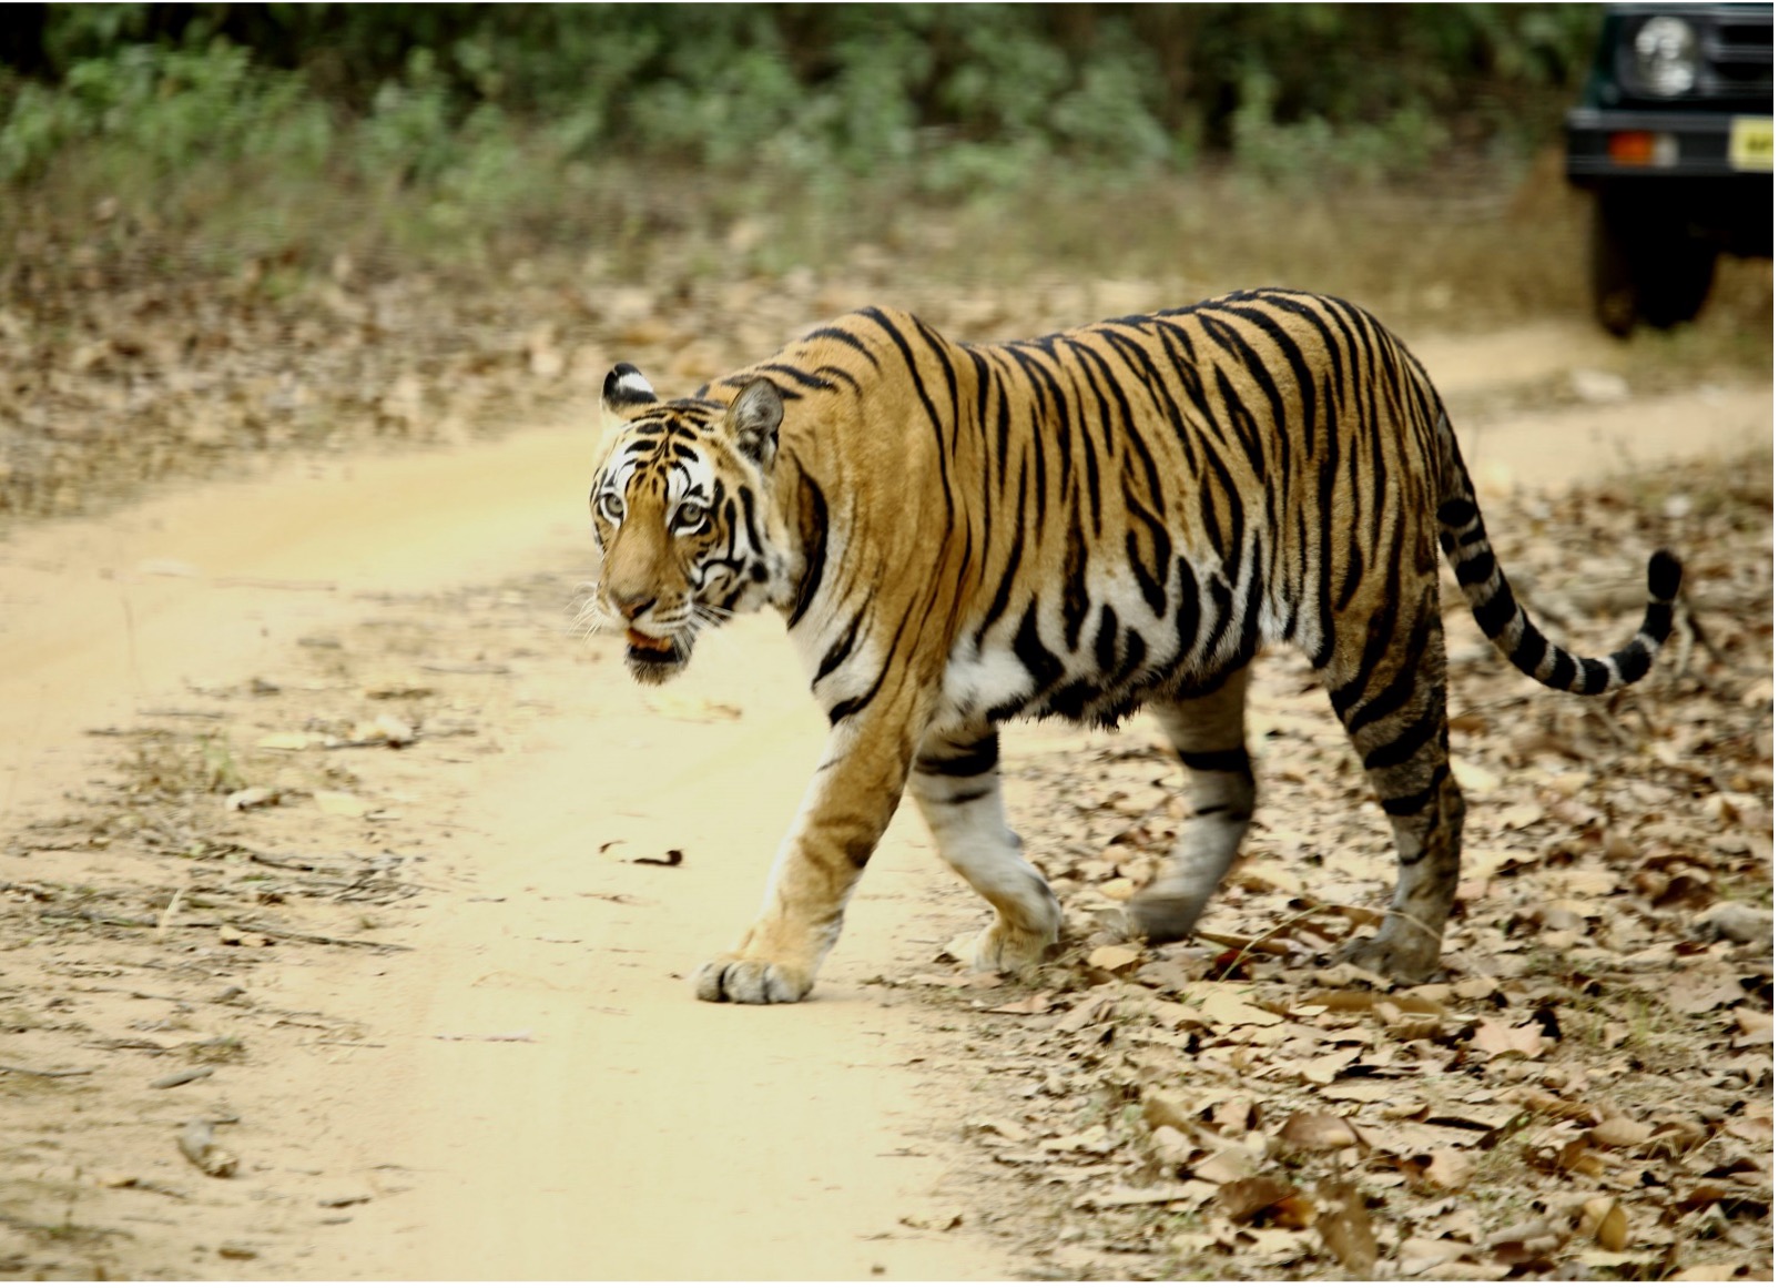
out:
<path id="1" fill-rule="evenodd" d="M 758 1012 L 690 998 L 690 968 L 756 904 L 820 751 L 788 651 L 747 635 L 726 662 L 760 671 L 738 685 L 724 667 L 713 692 L 744 720 L 688 726 L 623 694 L 601 696 L 598 719 L 553 724 L 548 745 L 512 760 L 464 815 L 477 840 L 457 870 L 473 870 L 479 900 L 500 902 L 457 900 L 429 918 L 422 952 L 374 998 L 349 996 L 345 964 L 334 1005 L 393 1003 L 416 1030 L 391 1039 L 393 1059 L 354 1089 L 350 1110 L 374 1121 L 391 1103 L 439 1107 L 450 1130 L 438 1114 L 388 1133 L 352 1126 L 386 1135 L 390 1156 L 439 1181 L 366 1212 L 317 1272 L 1003 1274 L 966 1235 L 898 1226 L 932 1208 L 945 1160 L 927 1135 L 925 1075 L 909 1064 L 925 1035 L 859 986 L 909 968 L 898 957 L 938 879 L 906 827 L 873 865 L 820 1005 Z M 600 854 L 607 841 L 685 861 L 624 863 Z M 535 1041 L 427 1041 L 514 1032 Z"/>

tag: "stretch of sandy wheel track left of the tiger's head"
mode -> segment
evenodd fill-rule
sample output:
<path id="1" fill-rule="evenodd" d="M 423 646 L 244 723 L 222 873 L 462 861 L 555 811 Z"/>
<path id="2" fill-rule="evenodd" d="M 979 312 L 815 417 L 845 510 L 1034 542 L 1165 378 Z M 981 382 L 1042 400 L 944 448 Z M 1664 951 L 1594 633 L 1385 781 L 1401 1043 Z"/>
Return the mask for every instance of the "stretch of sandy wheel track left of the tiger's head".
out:
<path id="1" fill-rule="evenodd" d="M 354 594 L 491 576 L 578 532 L 584 434 L 212 484 L 0 544 L 0 806 L 66 735 L 276 658 Z"/>

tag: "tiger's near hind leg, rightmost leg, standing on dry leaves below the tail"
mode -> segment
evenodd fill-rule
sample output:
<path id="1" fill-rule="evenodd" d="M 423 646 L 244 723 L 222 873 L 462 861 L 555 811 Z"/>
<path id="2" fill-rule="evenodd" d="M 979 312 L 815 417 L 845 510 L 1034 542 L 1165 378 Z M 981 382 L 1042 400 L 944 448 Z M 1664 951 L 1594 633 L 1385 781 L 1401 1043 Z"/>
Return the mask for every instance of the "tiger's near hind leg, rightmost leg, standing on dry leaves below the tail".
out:
<path id="1" fill-rule="evenodd" d="M 1379 975 L 1418 982 L 1439 966 L 1457 891 L 1464 793 L 1448 760 L 1437 585 L 1429 582 L 1413 605 L 1407 598 L 1372 614 L 1368 637 L 1338 651 L 1322 680 L 1397 841 L 1397 893 L 1384 925 L 1343 955 Z M 1345 674 L 1343 655 L 1350 658 Z"/>

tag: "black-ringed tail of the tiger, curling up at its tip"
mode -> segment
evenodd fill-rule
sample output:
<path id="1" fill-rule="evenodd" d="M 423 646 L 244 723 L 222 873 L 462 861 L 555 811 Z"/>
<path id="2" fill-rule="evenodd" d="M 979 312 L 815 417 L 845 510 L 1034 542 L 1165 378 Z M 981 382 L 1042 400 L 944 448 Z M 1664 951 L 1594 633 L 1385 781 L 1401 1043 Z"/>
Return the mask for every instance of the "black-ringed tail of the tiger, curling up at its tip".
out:
<path id="1" fill-rule="evenodd" d="M 1649 557 L 1649 605 L 1630 644 L 1605 658 L 1576 656 L 1550 640 L 1514 598 L 1507 573 L 1494 560 L 1494 548 L 1482 527 L 1477 493 L 1457 450 L 1457 434 L 1439 409 L 1443 479 L 1439 498 L 1439 548 L 1457 573 L 1482 633 L 1519 671 L 1550 688 L 1571 694 L 1610 694 L 1642 680 L 1662 644 L 1674 630 L 1674 600 L 1681 566 L 1667 550 Z"/>

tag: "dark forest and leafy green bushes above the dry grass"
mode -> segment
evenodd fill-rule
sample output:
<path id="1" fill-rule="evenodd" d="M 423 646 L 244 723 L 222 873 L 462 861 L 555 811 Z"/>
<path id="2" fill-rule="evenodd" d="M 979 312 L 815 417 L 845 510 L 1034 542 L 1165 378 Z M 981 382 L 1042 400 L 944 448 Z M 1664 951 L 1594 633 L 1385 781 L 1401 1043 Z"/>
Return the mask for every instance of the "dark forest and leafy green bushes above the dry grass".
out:
<path id="1" fill-rule="evenodd" d="M 1548 4 L 12 5 L 0 178 L 114 139 L 431 180 L 521 130 L 564 160 L 950 194 L 1051 158 L 1391 176 L 1550 137 L 1596 27 Z"/>

